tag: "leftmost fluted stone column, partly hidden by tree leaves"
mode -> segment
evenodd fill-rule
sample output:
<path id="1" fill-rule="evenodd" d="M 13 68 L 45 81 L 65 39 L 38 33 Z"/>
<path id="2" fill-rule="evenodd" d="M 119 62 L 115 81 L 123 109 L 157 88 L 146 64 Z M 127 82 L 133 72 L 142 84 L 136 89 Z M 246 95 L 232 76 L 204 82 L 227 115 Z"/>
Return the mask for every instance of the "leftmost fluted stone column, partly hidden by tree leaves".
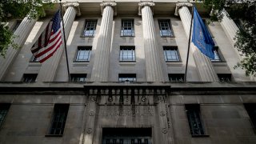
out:
<path id="1" fill-rule="evenodd" d="M 21 24 L 18 26 L 17 30 L 14 31 L 14 35 L 16 36 L 14 38 L 14 43 L 17 43 L 19 47 L 22 47 L 26 41 L 26 38 L 30 34 L 30 31 L 32 30 L 36 20 L 31 18 L 23 18 Z M 4 80 L 4 76 L 10 66 L 12 66 L 12 63 L 14 62 L 14 59 L 16 58 L 18 54 L 18 50 L 13 49 L 12 47 L 9 47 L 6 51 L 6 58 L 0 57 L 0 80 Z"/>

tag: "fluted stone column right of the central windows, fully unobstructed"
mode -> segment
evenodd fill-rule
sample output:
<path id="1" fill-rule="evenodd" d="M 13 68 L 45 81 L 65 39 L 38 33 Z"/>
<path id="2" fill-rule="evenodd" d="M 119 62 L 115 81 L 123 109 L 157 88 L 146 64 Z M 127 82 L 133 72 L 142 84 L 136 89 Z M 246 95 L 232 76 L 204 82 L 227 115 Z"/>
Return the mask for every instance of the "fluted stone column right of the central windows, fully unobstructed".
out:
<path id="1" fill-rule="evenodd" d="M 139 15 L 142 15 L 144 50 L 146 58 L 146 81 L 163 82 L 162 64 L 159 57 L 158 43 L 154 28 L 151 6 L 154 2 L 139 2 Z"/>

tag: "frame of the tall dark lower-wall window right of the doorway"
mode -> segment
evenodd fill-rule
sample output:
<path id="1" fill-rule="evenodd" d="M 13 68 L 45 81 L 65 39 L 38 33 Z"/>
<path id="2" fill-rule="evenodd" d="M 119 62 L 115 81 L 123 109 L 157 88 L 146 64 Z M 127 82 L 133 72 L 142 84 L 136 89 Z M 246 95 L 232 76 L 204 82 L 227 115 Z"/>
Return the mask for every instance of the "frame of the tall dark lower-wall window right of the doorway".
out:
<path id="1" fill-rule="evenodd" d="M 200 105 L 199 104 L 185 104 L 185 110 L 186 110 L 186 118 L 187 122 L 189 123 L 190 127 L 190 134 L 192 137 L 209 137 L 208 134 L 206 134 L 206 127 L 204 126 L 204 122 L 202 121 L 202 114 L 200 110 Z M 193 112 L 193 114 L 190 113 L 190 111 Z M 198 117 L 198 118 L 193 118 L 193 117 Z M 191 119 L 193 118 L 193 119 Z M 192 122 L 197 122 L 197 126 L 199 128 L 192 127 L 194 126 L 194 123 Z M 200 129 L 201 134 L 196 134 L 195 130 Z"/>

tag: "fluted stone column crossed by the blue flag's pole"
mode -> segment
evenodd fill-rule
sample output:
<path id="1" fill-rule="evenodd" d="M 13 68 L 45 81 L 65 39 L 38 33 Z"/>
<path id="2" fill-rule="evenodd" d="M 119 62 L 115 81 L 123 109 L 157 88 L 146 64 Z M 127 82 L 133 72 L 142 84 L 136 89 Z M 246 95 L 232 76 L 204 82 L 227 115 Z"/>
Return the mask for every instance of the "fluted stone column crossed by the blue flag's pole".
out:
<path id="1" fill-rule="evenodd" d="M 192 6 L 192 4 L 189 2 L 178 2 L 176 4 L 175 14 L 179 14 L 186 33 L 186 37 L 189 39 L 191 14 L 188 6 Z M 190 49 L 192 50 L 194 62 L 198 68 L 198 73 L 202 82 L 218 82 L 218 76 L 214 72 L 214 66 L 210 61 L 210 58 L 207 58 L 204 54 L 202 54 L 201 51 L 198 50 L 198 48 L 196 48 L 192 42 L 190 44 Z"/>

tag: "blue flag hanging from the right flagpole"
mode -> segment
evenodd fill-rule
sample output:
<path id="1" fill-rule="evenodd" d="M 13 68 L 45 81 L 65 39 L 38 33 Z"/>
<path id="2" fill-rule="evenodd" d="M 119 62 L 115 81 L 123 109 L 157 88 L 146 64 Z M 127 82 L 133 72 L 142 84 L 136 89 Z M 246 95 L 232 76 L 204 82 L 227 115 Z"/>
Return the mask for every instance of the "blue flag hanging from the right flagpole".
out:
<path id="1" fill-rule="evenodd" d="M 194 7 L 194 26 L 192 34 L 192 42 L 194 46 L 205 54 L 207 57 L 214 59 L 214 40 L 211 38 L 202 18 Z"/>

